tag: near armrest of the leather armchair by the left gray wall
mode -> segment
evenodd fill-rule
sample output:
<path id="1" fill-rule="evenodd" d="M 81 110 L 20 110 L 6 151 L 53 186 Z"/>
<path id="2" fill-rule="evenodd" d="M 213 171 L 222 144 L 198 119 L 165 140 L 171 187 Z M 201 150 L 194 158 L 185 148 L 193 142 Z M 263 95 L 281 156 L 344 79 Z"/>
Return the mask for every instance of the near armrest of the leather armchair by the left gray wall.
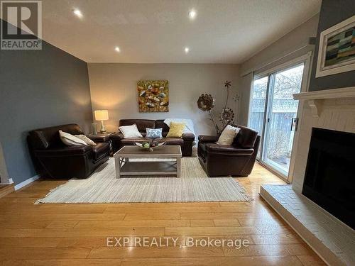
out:
<path id="1" fill-rule="evenodd" d="M 62 148 L 53 148 L 45 150 L 35 150 L 37 157 L 61 157 L 61 156 L 76 156 L 92 153 L 91 145 L 67 146 Z"/>

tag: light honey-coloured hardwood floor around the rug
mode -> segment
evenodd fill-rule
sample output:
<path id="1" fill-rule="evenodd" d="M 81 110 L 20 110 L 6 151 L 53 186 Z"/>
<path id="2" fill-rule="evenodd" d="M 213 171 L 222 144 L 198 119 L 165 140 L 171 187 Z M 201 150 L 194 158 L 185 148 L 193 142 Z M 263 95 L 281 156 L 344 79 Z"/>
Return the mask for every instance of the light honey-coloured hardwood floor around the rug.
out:
<path id="1" fill-rule="evenodd" d="M 324 265 L 258 195 L 284 184 L 263 168 L 237 180 L 251 202 L 33 204 L 65 181 L 36 181 L 0 199 L 0 265 Z M 107 237 L 131 236 L 125 247 Z M 133 237 L 174 237 L 177 247 L 133 247 Z M 188 247 L 195 240 L 247 240 L 241 248 Z M 165 243 L 166 244 L 166 243 Z"/>

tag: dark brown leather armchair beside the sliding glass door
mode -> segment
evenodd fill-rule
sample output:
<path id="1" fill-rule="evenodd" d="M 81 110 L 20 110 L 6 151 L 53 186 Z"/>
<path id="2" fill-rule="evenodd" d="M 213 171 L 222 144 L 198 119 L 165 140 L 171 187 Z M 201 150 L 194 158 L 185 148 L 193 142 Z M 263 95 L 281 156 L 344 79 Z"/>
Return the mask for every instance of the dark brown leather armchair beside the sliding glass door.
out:
<path id="1" fill-rule="evenodd" d="M 241 128 L 232 145 L 216 144 L 219 136 L 200 135 L 197 154 L 209 177 L 247 177 L 256 160 L 260 135 L 258 132 L 239 125 Z"/>

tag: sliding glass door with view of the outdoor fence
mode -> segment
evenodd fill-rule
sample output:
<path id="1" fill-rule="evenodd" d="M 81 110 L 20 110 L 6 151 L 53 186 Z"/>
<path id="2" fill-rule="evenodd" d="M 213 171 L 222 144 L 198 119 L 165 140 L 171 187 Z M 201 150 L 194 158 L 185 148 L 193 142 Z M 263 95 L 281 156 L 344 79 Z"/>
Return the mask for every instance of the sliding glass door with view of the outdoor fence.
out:
<path id="1" fill-rule="evenodd" d="M 261 135 L 258 160 L 288 177 L 304 63 L 271 72 L 253 81 L 249 127 Z"/>

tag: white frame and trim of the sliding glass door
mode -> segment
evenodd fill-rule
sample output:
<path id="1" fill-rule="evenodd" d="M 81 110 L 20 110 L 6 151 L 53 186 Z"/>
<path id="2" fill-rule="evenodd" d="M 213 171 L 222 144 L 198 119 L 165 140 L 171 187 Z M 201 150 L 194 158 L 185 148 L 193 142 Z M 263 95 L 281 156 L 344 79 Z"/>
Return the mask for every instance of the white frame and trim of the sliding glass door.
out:
<path id="1" fill-rule="evenodd" d="M 260 160 L 258 160 L 258 162 L 263 165 L 264 167 L 268 168 L 268 170 L 271 170 L 271 172 L 275 173 L 278 175 L 278 177 L 280 177 L 281 179 L 283 179 L 285 182 L 287 183 L 292 183 L 293 181 L 293 172 L 295 169 L 295 155 L 297 154 L 297 143 L 298 143 L 298 137 L 299 137 L 299 132 L 300 132 L 300 124 L 302 121 L 302 112 L 303 112 L 303 107 L 304 107 L 304 103 L 303 101 L 300 101 L 298 104 L 298 108 L 297 108 L 297 118 L 298 118 L 298 128 L 297 131 L 295 131 L 295 135 L 293 138 L 293 148 L 292 148 L 292 153 L 291 153 L 291 157 L 290 157 L 290 168 L 288 170 L 288 176 L 285 176 L 285 174 L 283 174 L 282 172 L 269 167 L 268 165 L 265 164 L 265 162 L 263 162 L 263 150 L 265 148 L 265 142 L 264 142 L 264 138 L 266 138 L 266 121 L 268 119 L 268 111 L 269 111 L 269 97 L 271 95 L 270 92 L 270 88 L 273 87 L 271 82 L 274 82 L 273 80 L 273 74 L 280 72 L 282 70 L 287 70 L 288 68 L 294 67 L 296 65 L 300 65 L 303 64 L 304 68 L 303 68 L 303 74 L 302 74 L 302 84 L 301 84 L 301 89 L 300 92 L 307 92 L 308 91 L 308 87 L 310 84 L 310 72 L 311 72 L 311 64 L 312 64 L 312 51 L 307 52 L 307 54 L 302 55 L 300 57 L 297 57 L 293 60 L 290 60 L 288 62 L 285 62 L 283 64 L 277 65 L 275 67 L 272 67 L 266 71 L 263 71 L 261 73 L 258 74 L 254 74 L 253 75 L 253 81 L 255 79 L 261 79 L 263 77 L 268 77 L 268 89 L 266 89 L 266 103 L 265 103 L 265 110 L 264 110 L 264 117 L 263 117 L 263 130 L 262 130 L 262 135 L 263 138 L 261 138 L 261 154 L 259 155 Z M 251 87 L 251 89 L 253 89 L 253 86 Z M 253 94 L 250 94 L 250 103 L 251 103 L 251 99 L 252 99 Z M 250 117 L 251 117 L 251 104 L 249 104 L 249 115 L 248 115 L 248 125 L 250 124 Z"/>

